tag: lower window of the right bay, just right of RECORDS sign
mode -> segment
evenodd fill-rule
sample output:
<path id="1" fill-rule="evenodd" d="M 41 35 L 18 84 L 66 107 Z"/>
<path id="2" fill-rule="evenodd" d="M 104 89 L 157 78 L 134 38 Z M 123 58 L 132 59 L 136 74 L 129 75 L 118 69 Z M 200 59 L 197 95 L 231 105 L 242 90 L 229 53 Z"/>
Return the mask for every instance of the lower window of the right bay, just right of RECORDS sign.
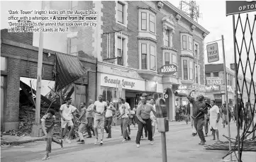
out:
<path id="1" fill-rule="evenodd" d="M 190 59 L 182 59 L 183 80 L 194 80 L 194 62 Z"/>

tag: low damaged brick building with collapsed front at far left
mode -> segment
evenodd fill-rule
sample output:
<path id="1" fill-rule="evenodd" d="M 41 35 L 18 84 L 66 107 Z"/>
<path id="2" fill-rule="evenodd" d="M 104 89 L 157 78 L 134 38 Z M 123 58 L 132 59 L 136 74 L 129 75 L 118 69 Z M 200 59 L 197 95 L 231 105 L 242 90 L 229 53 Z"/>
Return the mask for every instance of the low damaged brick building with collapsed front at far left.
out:
<path id="1" fill-rule="evenodd" d="M 36 79 L 38 47 L 33 46 L 33 40 L 33 33 L 8 33 L 6 29 L 1 30 L 1 128 L 5 131 L 18 129 L 21 77 Z M 48 82 L 53 79 L 56 52 L 59 51 L 43 50 L 42 79 Z M 79 52 L 79 59 L 90 70 L 84 79 L 74 82 L 72 98 L 76 107 L 79 102 L 96 98 L 96 59 L 82 51 Z"/>

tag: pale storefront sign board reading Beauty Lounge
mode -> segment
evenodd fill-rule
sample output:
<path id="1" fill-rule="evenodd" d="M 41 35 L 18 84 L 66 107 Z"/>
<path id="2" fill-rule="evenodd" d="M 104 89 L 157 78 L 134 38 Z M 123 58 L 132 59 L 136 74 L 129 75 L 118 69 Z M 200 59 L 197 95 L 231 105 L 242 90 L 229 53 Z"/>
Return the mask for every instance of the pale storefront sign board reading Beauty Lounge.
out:
<path id="1" fill-rule="evenodd" d="M 118 85 L 121 85 L 124 89 L 145 91 L 145 81 L 111 74 L 101 74 L 101 86 L 118 88 Z"/>

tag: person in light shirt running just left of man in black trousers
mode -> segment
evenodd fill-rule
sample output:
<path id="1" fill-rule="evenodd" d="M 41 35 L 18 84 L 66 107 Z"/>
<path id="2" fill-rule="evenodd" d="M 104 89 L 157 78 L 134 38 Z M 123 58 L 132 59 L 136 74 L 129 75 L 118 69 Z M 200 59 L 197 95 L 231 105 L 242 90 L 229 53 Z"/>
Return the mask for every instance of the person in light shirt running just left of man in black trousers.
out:
<path id="1" fill-rule="evenodd" d="M 130 141 L 130 136 L 127 131 L 128 120 L 129 120 L 128 108 L 126 107 L 126 105 L 125 105 L 126 102 L 123 98 L 119 98 L 118 103 L 119 103 L 120 107 L 119 107 L 119 112 L 116 116 L 118 116 L 117 119 L 121 118 L 121 123 L 123 123 L 123 129 L 122 129 L 123 141 Z"/>

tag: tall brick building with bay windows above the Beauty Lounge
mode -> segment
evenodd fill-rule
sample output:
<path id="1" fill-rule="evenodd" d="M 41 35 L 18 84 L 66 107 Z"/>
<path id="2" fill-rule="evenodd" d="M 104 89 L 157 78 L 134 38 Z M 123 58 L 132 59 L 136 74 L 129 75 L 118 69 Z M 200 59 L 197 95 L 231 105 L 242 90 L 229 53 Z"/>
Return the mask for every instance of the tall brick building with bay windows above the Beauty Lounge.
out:
<path id="1" fill-rule="evenodd" d="M 101 20 L 93 33 L 100 38 L 93 44 L 98 47 L 97 94 L 113 101 L 126 98 L 132 108 L 145 91 L 155 99 L 167 94 L 168 117 L 174 120 L 175 103 L 187 104 L 175 91 L 187 93 L 199 83 L 204 93 L 204 38 L 209 32 L 201 25 L 168 1 L 97 1 L 94 6 Z M 177 73 L 159 74 L 165 64 L 176 64 Z"/>

